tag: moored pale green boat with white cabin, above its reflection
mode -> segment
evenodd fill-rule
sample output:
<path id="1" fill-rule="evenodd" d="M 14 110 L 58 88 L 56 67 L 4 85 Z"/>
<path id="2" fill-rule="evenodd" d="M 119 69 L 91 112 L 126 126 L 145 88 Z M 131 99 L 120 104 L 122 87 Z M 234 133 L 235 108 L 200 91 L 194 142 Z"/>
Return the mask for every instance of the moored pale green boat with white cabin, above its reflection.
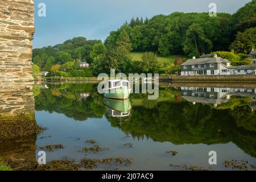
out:
<path id="1" fill-rule="evenodd" d="M 109 80 L 108 88 L 104 89 L 104 97 L 126 100 L 131 93 L 128 80 Z"/>

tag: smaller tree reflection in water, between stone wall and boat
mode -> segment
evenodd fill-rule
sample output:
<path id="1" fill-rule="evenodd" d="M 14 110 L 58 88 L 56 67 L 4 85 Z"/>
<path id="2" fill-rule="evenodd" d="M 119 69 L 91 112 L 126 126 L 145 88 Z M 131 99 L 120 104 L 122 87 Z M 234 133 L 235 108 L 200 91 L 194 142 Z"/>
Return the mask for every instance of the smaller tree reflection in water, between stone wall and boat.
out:
<path id="1" fill-rule="evenodd" d="M 102 118 L 106 113 L 102 96 L 97 93 L 96 85 L 63 84 L 50 85 L 50 89 L 42 89 L 35 97 L 36 110 L 46 110 L 49 113 L 63 113 L 77 121 L 87 118 Z M 88 98 L 81 98 L 81 93 L 90 93 Z"/>

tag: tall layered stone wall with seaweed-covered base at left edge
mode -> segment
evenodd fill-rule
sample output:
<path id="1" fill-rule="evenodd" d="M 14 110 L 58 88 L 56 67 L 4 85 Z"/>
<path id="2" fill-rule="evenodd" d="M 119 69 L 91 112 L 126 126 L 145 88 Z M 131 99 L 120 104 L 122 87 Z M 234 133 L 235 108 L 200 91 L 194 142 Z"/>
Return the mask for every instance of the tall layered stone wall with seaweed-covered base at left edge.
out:
<path id="1" fill-rule="evenodd" d="M 0 0 L 0 143 L 38 130 L 32 92 L 34 31 L 33 0 Z"/>

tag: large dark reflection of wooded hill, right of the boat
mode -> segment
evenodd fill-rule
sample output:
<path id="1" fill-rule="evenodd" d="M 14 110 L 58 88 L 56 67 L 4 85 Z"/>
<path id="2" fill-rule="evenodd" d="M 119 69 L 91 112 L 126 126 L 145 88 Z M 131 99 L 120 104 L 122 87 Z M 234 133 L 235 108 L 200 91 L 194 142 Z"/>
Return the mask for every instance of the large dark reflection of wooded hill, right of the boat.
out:
<path id="1" fill-rule="evenodd" d="M 122 126 L 118 125 L 117 119 L 108 119 L 112 126 L 121 128 L 134 138 L 146 137 L 174 144 L 233 142 L 256 157 L 256 132 L 246 130 L 255 128 L 255 119 L 251 119 L 254 115 L 249 106 L 221 110 L 201 104 L 162 102 L 155 109 L 133 107 L 131 118 Z M 244 119 L 241 121 L 239 118 Z"/>

